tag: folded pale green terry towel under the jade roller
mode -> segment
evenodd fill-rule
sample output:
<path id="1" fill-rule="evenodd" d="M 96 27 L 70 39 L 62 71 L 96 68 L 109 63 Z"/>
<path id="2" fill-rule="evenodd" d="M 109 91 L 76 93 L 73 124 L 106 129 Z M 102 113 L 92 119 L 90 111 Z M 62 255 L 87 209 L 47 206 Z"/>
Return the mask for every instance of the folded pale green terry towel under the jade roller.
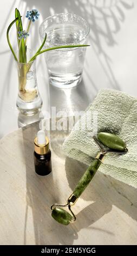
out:
<path id="1" fill-rule="evenodd" d="M 97 111 L 97 130 L 119 135 L 126 142 L 128 153 L 125 155 L 105 156 L 99 170 L 115 179 L 137 187 L 137 99 L 125 93 L 103 89 L 97 94 L 87 111 Z M 84 118 L 84 117 L 83 117 Z M 64 142 L 64 151 L 83 163 L 90 164 L 99 152 L 91 136 L 91 122 L 86 129 L 79 129 L 80 121 L 75 125 Z"/>

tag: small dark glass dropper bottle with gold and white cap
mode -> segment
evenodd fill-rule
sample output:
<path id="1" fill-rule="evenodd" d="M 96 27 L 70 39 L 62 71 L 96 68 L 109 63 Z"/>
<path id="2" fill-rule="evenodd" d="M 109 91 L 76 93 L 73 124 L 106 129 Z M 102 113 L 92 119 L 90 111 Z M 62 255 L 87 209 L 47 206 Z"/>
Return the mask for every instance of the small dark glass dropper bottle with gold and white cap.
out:
<path id="1" fill-rule="evenodd" d="M 48 175 L 51 173 L 51 151 L 49 149 L 49 139 L 45 137 L 45 132 L 40 130 L 34 139 L 34 163 L 35 172 L 38 175 Z"/>

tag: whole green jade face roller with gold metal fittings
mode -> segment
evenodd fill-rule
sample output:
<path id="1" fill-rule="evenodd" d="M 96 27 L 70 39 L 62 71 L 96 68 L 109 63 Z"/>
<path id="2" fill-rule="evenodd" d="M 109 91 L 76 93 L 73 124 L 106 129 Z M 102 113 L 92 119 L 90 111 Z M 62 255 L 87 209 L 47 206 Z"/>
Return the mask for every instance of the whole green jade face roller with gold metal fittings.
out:
<path id="1" fill-rule="evenodd" d="M 101 147 L 97 139 L 109 149 L 105 151 Z M 97 139 L 94 136 L 94 141 L 99 146 L 101 151 L 99 154 L 97 154 L 92 164 L 87 168 L 86 172 L 83 174 L 82 178 L 76 185 L 73 193 L 68 198 L 67 204 L 53 204 L 51 206 L 51 216 L 61 224 L 68 225 L 70 222 L 74 222 L 76 220 L 76 216 L 71 210 L 71 206 L 76 203 L 77 199 L 81 196 L 85 188 L 88 186 L 89 182 L 93 179 L 97 169 L 99 169 L 100 164 L 102 163 L 103 157 L 108 153 L 122 155 L 126 154 L 128 151 L 125 142 L 123 142 L 121 138 L 112 133 L 100 132 L 97 135 Z M 61 207 L 68 207 L 71 214 L 68 211 L 62 209 Z"/>

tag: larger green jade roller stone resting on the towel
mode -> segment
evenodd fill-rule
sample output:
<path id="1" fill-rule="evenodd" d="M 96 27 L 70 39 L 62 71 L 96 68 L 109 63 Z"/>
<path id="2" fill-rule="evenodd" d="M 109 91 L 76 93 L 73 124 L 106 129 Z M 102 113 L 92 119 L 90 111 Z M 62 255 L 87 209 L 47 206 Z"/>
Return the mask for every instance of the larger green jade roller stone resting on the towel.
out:
<path id="1" fill-rule="evenodd" d="M 126 143 L 123 142 L 119 136 L 112 133 L 100 132 L 97 138 L 110 149 L 116 149 L 120 151 L 124 151 L 126 149 Z"/>

